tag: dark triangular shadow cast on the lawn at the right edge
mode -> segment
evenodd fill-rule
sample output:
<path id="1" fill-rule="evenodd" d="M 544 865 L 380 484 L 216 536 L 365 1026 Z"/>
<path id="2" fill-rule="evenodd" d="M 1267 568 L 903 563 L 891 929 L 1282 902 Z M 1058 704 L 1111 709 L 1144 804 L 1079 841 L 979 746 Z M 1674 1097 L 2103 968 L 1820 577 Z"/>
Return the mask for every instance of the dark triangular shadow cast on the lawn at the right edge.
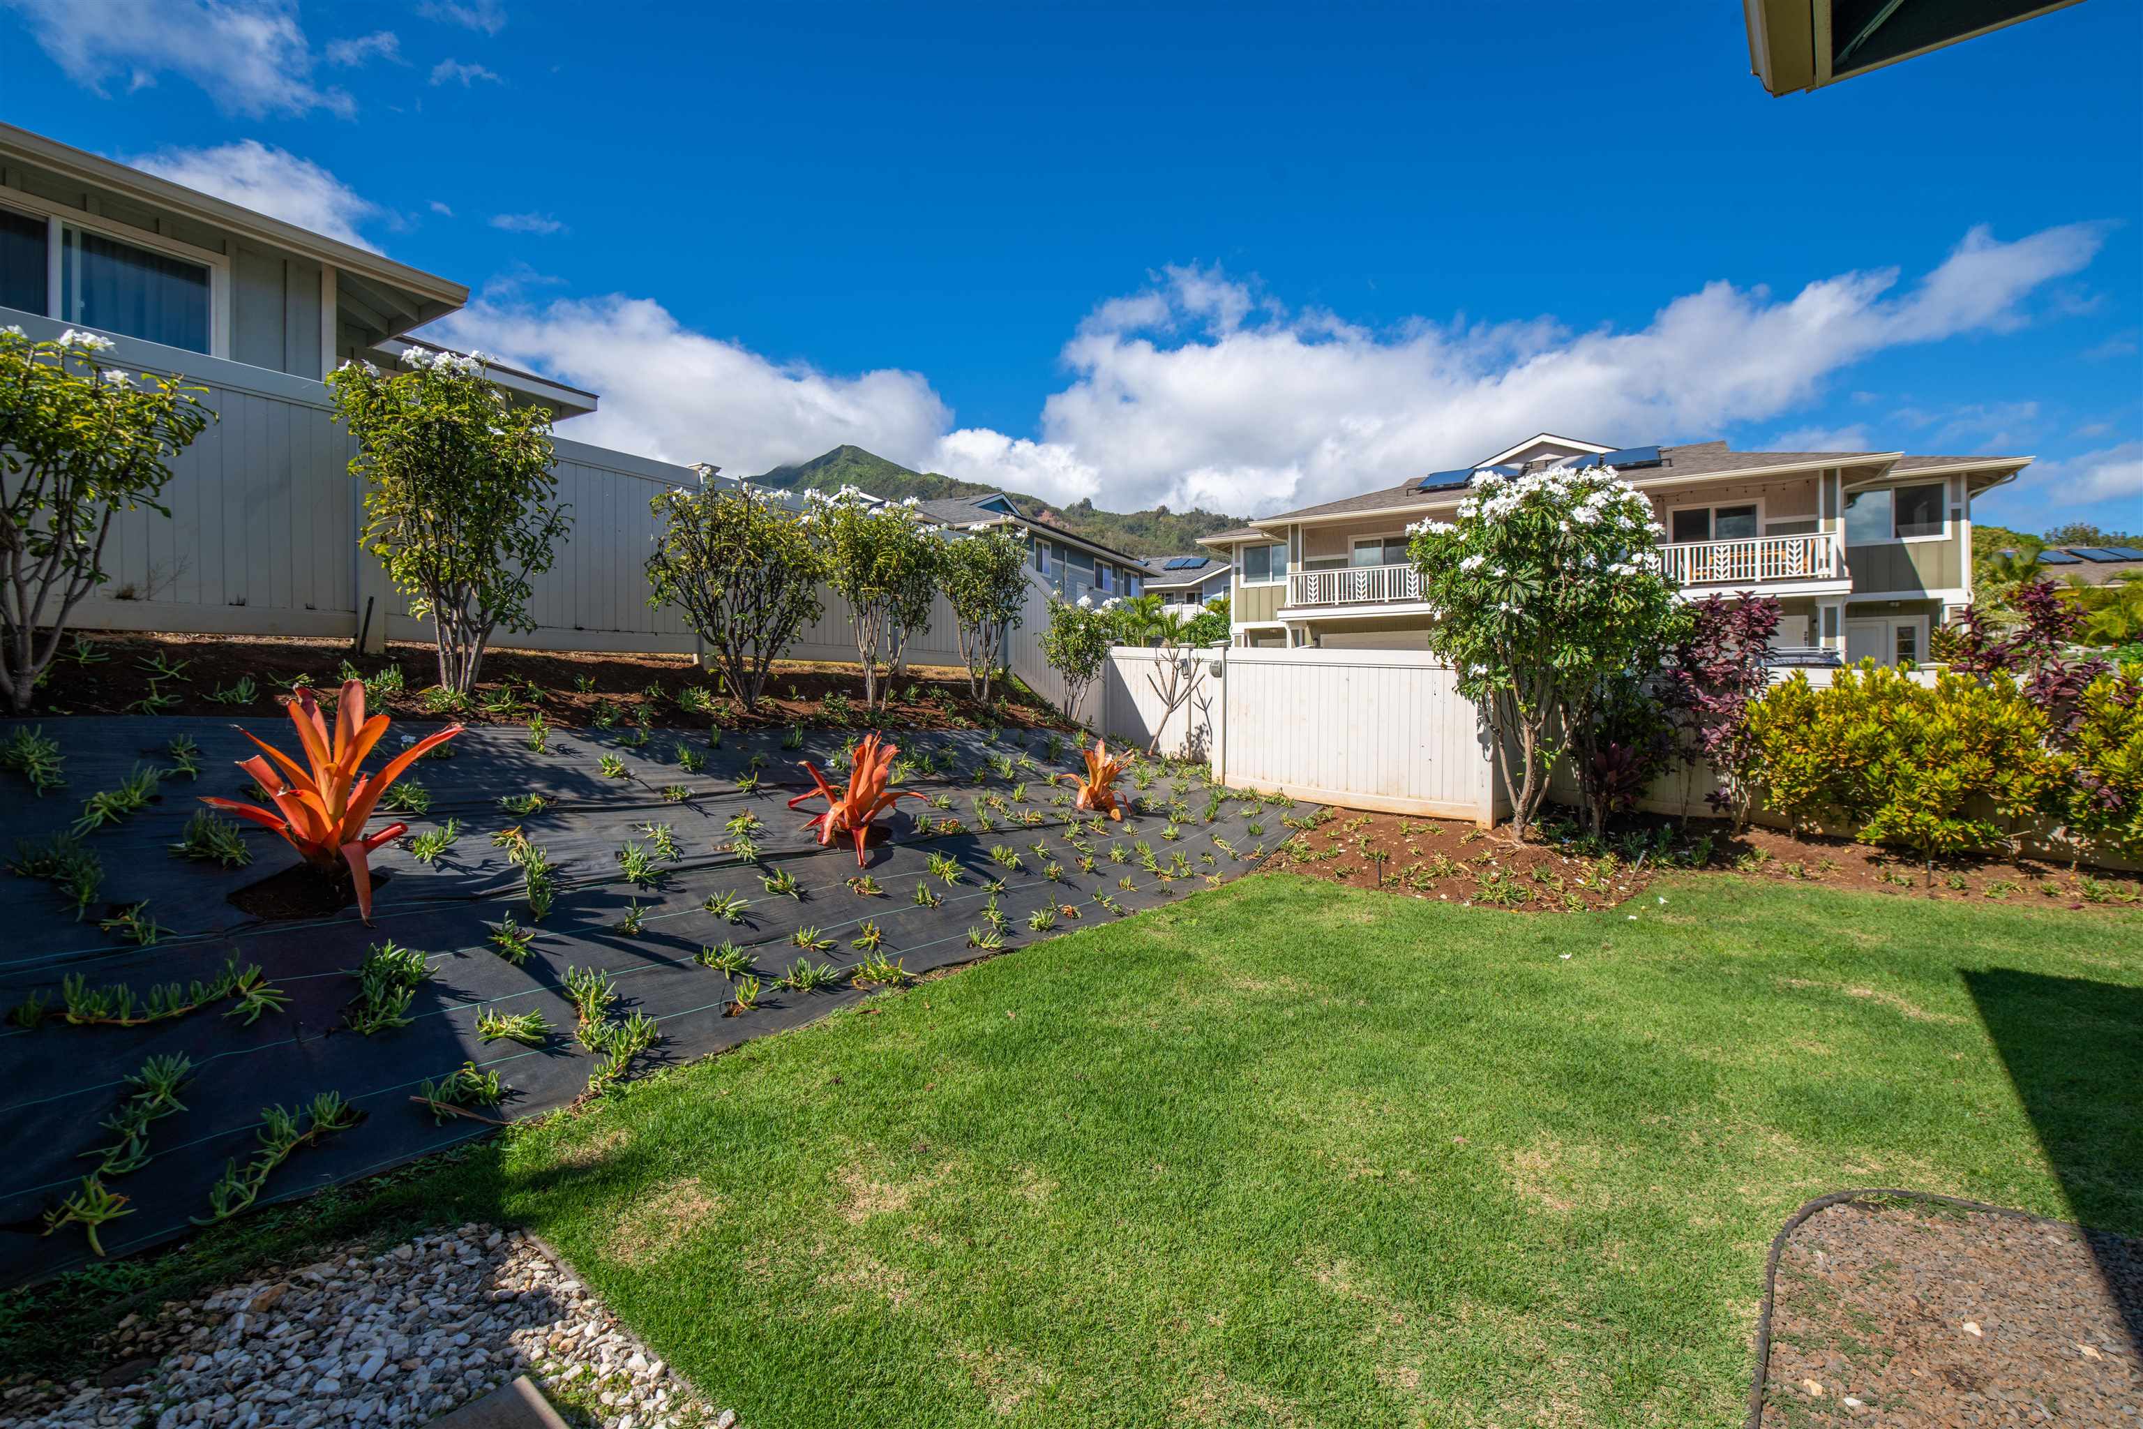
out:
<path id="1" fill-rule="evenodd" d="M 2115 1243 L 2143 1236 L 2143 988 L 2014 968 L 1963 979 L 2143 1354 L 2143 1283 Z"/>

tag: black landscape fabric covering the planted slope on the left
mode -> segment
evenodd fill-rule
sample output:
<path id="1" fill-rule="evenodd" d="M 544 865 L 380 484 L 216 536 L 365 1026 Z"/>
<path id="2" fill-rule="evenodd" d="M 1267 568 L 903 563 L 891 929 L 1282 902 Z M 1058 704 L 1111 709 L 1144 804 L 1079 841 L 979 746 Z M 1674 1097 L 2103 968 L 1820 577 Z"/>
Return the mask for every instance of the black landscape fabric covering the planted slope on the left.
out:
<path id="1" fill-rule="evenodd" d="M 30 722 L 36 724 L 36 722 Z M 287 720 L 244 720 L 244 728 L 296 754 Z M 6 739 L 17 722 L 0 722 Z M 193 739 L 199 776 L 167 773 L 156 799 L 116 825 L 84 836 L 103 863 L 103 889 L 77 919 L 56 887 L 34 876 L 0 878 L 0 1009 L 43 1005 L 43 1018 L 11 1016 L 0 1031 L 0 1283 L 43 1279 L 92 1260 L 79 1225 L 45 1230 L 45 1215 L 81 1187 L 114 1142 L 103 1127 L 131 1093 L 126 1078 L 152 1056 L 184 1056 L 184 1103 L 148 1129 L 150 1159 L 107 1178 L 129 1198 L 129 1215 L 101 1230 L 107 1253 L 137 1251 L 193 1228 L 210 1213 L 208 1193 L 227 1161 L 244 1165 L 259 1150 L 261 1112 L 302 1110 L 319 1093 L 339 1093 L 362 1123 L 298 1150 L 266 1183 L 257 1204 L 306 1195 L 452 1142 L 482 1135 L 484 1123 L 435 1120 L 411 1101 L 424 1080 L 474 1061 L 497 1071 L 506 1101 L 489 1110 L 521 1118 L 555 1110 L 583 1093 L 596 1056 L 576 1039 L 566 996 L 568 968 L 600 968 L 617 986 L 617 1016 L 634 1011 L 660 1024 L 660 1041 L 632 1061 L 632 1075 L 692 1061 L 752 1037 L 791 1028 L 855 1003 L 864 990 L 846 977 L 836 990 L 791 992 L 774 983 L 797 958 L 853 968 L 866 921 L 883 932 L 885 958 L 906 973 L 928 973 L 979 956 L 975 936 L 1003 921 L 1003 945 L 1022 947 L 1056 932 L 1129 915 L 1209 881 L 1249 870 L 1286 838 L 1286 808 L 1254 795 L 1224 795 L 1202 769 L 1149 763 L 1119 784 L 1123 823 L 1095 829 L 1074 821 L 1072 786 L 1050 776 L 1080 769 L 1078 746 L 1035 731 L 960 731 L 891 735 L 900 746 L 898 782 L 930 797 L 902 799 L 881 818 L 866 868 L 846 840 L 821 848 L 804 829 L 823 799 L 789 810 L 810 788 L 797 761 L 810 758 L 836 786 L 831 767 L 855 741 L 849 731 L 726 735 L 709 748 L 705 731 L 553 731 L 531 750 L 512 726 L 465 731 L 450 758 L 420 761 L 403 782 L 431 795 L 422 814 L 377 812 L 371 829 L 401 818 L 409 833 L 459 821 L 459 838 L 433 866 L 409 855 L 409 838 L 373 855 L 386 881 L 373 900 L 373 926 L 358 911 L 324 917 L 257 919 L 231 893 L 294 868 L 296 853 L 266 829 L 244 827 L 253 861 L 225 870 L 171 851 L 197 795 L 244 799 L 251 778 L 234 761 L 253 754 L 238 726 L 199 718 L 47 720 L 60 741 L 64 788 L 39 797 L 17 773 L 0 773 L 0 829 L 19 851 L 64 833 L 88 795 L 118 786 L 135 765 L 171 769 L 171 741 Z M 396 724 L 366 767 L 377 769 L 403 737 L 437 726 Z M 784 748 L 795 746 L 799 748 Z M 613 758 L 611 771 L 604 756 Z M 686 771 L 686 763 L 699 763 Z M 759 788 L 739 788 L 739 778 Z M 501 797 L 540 795 L 540 812 L 501 808 Z M 1215 803 L 1217 801 L 1217 803 Z M 733 821 L 756 814 L 756 851 L 731 848 Z M 1307 812 L 1307 810 L 1297 810 Z M 984 823 L 994 827 L 986 829 Z M 666 825 L 677 857 L 658 853 L 654 825 Z M 1256 825 L 1256 833 L 1252 831 Z M 495 836 L 519 827 L 557 870 L 557 900 L 531 919 L 521 870 Z M 639 844 L 658 868 L 654 887 L 634 887 L 619 848 Z M 994 857 L 992 857 L 994 855 Z M 1149 857 L 1151 855 L 1151 857 Z M 1016 859 L 1016 861 L 1014 861 Z M 1091 859 L 1091 870 L 1082 870 Z M 786 872 L 797 896 L 769 891 Z M 849 878 L 868 874 L 883 889 L 857 893 Z M 1123 881 L 1129 881 L 1125 887 Z M 1003 887 L 999 889 L 996 883 Z M 934 906 L 917 902 L 928 889 Z M 705 904 L 733 896 L 729 921 Z M 161 926 L 135 947 L 101 921 L 131 904 Z M 639 906 L 639 932 L 624 921 Z M 1054 930 L 1029 919 L 1054 908 Z M 1065 911 L 1076 911 L 1076 917 Z M 531 932 L 529 953 L 510 962 L 493 943 L 508 917 Z M 819 951 L 797 943 L 816 928 Z M 405 1026 L 360 1035 L 345 1024 L 358 994 L 356 968 L 366 949 L 388 941 L 426 953 L 431 977 L 418 986 Z M 831 945 L 823 945 L 831 941 Z M 699 962 L 701 949 L 735 943 L 763 981 L 754 1011 L 726 1016 L 733 981 Z M 84 988 L 124 983 L 146 996 L 156 983 L 212 979 L 227 964 L 257 966 L 287 1003 L 246 1022 L 221 1001 L 146 1026 L 75 1026 L 66 1020 L 66 979 Z M 484 1041 L 478 1016 L 540 1011 L 540 1046 Z M 36 1022 L 24 1026 L 24 1022 Z"/>

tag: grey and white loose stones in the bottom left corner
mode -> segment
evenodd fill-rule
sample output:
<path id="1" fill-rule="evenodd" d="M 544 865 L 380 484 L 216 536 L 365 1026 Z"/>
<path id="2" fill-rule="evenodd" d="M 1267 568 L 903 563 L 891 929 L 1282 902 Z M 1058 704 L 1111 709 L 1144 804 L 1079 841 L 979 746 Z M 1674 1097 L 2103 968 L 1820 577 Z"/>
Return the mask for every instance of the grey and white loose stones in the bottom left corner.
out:
<path id="1" fill-rule="evenodd" d="M 0 1386 L 0 1425 L 424 1425 L 519 1373 L 585 1425 L 735 1425 L 534 1240 L 489 1225 L 270 1266 L 129 1315 L 105 1350 L 96 1380 Z"/>

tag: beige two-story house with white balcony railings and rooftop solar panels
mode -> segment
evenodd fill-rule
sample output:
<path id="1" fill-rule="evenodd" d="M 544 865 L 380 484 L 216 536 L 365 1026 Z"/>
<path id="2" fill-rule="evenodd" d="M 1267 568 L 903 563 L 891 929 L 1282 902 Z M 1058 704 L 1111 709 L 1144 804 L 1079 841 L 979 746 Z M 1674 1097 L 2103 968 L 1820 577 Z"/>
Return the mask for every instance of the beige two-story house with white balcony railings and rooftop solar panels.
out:
<path id="1" fill-rule="evenodd" d="M 1232 566 L 1237 645 L 1421 649 L 1429 615 L 1406 527 L 1449 521 L 1477 469 L 1603 463 L 1652 499 L 1682 593 L 1772 596 L 1781 647 L 1924 662 L 1972 600 L 1972 499 L 2029 456 L 1609 448 L 1539 433 L 1474 467 L 1305 506 L 1204 538 Z"/>

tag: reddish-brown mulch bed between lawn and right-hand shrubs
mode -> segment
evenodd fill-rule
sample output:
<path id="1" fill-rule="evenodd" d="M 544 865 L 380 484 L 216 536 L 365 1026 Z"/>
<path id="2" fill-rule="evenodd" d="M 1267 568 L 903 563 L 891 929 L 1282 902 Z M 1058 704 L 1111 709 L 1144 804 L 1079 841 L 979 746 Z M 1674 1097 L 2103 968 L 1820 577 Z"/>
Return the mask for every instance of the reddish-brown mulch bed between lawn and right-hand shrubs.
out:
<path id="1" fill-rule="evenodd" d="M 1779 829 L 1729 836 L 1708 818 L 1633 821 L 1605 848 L 1549 833 L 1513 844 L 1457 818 L 1410 818 L 1331 810 L 1314 829 L 1282 829 L 1288 844 L 1267 861 L 1346 887 L 1522 913 L 1612 908 L 1642 893 L 1661 870 L 1710 870 L 1894 893 L 1899 898 L 2051 902 L 2122 908 L 2143 902 L 2137 874 L 2070 872 L 2036 859 L 1976 859 L 1929 870 L 1909 853 L 1839 838 L 1796 838 Z M 2139 1427 L 2143 1429 L 2143 1427 Z"/>

